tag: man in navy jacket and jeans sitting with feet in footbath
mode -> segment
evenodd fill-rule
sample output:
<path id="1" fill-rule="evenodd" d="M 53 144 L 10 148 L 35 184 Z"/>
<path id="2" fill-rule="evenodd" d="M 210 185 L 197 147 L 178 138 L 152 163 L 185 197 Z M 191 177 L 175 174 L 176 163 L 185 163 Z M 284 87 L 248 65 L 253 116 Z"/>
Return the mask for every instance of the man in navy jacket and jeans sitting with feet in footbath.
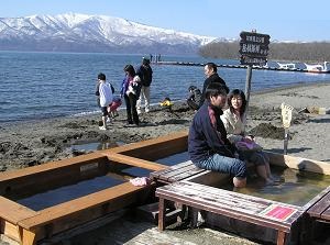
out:
<path id="1" fill-rule="evenodd" d="M 234 146 L 228 141 L 220 115 L 229 89 L 212 82 L 206 89 L 206 100 L 195 114 L 189 129 L 188 153 L 199 168 L 230 174 L 235 187 L 245 187 L 245 163 L 235 158 Z"/>

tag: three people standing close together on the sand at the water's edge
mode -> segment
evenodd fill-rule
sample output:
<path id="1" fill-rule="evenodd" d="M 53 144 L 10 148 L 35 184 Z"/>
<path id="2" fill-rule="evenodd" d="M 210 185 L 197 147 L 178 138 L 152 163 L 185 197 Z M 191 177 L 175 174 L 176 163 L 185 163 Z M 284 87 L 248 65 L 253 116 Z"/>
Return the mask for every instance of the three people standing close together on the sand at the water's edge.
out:
<path id="1" fill-rule="evenodd" d="M 112 113 L 116 116 L 117 108 L 123 99 L 127 107 L 128 124 L 140 124 L 139 114 L 142 113 L 142 100 L 144 100 L 144 111 L 150 112 L 150 86 L 153 79 L 153 70 L 150 59 L 142 58 L 141 66 L 136 69 L 132 65 L 123 68 L 125 76 L 121 82 L 120 98 L 113 98 L 113 86 L 107 81 L 105 74 L 98 75 L 96 96 L 102 113 L 102 125 L 100 130 L 107 130 L 107 121 Z"/>

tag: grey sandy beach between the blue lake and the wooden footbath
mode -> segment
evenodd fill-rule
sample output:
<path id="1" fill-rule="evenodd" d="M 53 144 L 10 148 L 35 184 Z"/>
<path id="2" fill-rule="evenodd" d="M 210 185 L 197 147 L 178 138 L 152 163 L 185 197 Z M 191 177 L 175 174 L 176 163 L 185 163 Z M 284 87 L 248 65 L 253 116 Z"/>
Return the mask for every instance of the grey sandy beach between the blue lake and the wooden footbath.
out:
<path id="1" fill-rule="evenodd" d="M 255 135 L 256 141 L 264 149 L 283 153 L 284 129 L 280 104 L 285 102 L 294 108 L 289 127 L 288 154 L 330 163 L 330 114 L 298 113 L 308 107 L 329 109 L 329 82 L 253 93 L 250 98 L 248 132 Z M 123 110 L 112 121 L 108 131 L 98 129 L 99 114 L 0 124 L 0 170 L 8 171 L 40 165 L 86 154 L 106 146 L 128 144 L 188 130 L 193 116 L 194 112 L 183 102 L 176 103 L 173 111 L 154 107 L 152 112 L 141 115 L 142 123 L 139 127 L 125 126 L 125 111 Z M 81 144 L 86 148 L 75 147 Z M 154 225 L 148 229 L 156 232 Z M 207 233 L 207 231 L 204 232 Z M 208 232 L 209 234 L 212 233 Z M 182 241 L 186 241 L 183 238 L 187 236 L 186 233 L 189 231 L 179 236 Z M 193 236 L 195 232 L 190 231 L 190 233 Z M 111 244 L 109 230 L 98 231 L 95 234 L 98 235 L 98 238 L 95 238 L 96 243 L 94 244 Z M 195 236 L 198 235 L 195 234 Z M 228 238 L 230 237 L 228 235 L 223 235 L 223 237 L 230 241 L 228 244 L 254 244 L 248 240 Z M 86 236 L 84 238 L 82 235 L 80 242 L 77 242 L 77 238 L 72 242 L 73 244 L 88 244 L 87 242 L 84 243 L 84 240 Z M 101 242 L 98 243 L 97 241 Z M 187 243 L 178 242 L 175 244 L 199 243 L 187 240 Z"/>

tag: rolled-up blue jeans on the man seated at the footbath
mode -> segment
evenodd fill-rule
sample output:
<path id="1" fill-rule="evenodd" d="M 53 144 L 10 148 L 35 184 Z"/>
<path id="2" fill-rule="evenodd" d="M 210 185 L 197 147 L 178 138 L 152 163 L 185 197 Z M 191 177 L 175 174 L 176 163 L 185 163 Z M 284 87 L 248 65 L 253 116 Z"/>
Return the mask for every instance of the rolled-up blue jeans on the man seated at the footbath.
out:
<path id="1" fill-rule="evenodd" d="M 195 165 L 202 169 L 226 172 L 240 178 L 245 178 L 248 174 L 244 162 L 219 154 L 210 155 L 207 159 Z"/>

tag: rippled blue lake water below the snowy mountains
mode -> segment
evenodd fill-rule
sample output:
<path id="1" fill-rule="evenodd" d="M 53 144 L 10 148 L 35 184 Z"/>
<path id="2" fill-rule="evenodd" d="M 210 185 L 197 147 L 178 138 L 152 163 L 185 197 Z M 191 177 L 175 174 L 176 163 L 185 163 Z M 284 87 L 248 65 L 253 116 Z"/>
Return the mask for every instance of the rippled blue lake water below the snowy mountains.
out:
<path id="1" fill-rule="evenodd" d="M 0 52 L 0 123 L 79 115 L 98 112 L 95 85 L 97 75 L 105 73 L 117 93 L 123 67 L 138 67 L 141 55 L 20 53 Z M 163 56 L 163 60 L 239 64 L 239 60 L 205 59 L 202 57 Z M 272 64 L 270 64 L 272 66 Z M 190 85 L 202 87 L 205 75 L 200 66 L 153 65 L 154 79 L 151 102 L 165 97 L 182 100 Z M 220 68 L 228 86 L 245 88 L 246 70 Z M 252 91 L 299 82 L 329 81 L 330 74 L 317 75 L 292 71 L 253 70 Z"/>

